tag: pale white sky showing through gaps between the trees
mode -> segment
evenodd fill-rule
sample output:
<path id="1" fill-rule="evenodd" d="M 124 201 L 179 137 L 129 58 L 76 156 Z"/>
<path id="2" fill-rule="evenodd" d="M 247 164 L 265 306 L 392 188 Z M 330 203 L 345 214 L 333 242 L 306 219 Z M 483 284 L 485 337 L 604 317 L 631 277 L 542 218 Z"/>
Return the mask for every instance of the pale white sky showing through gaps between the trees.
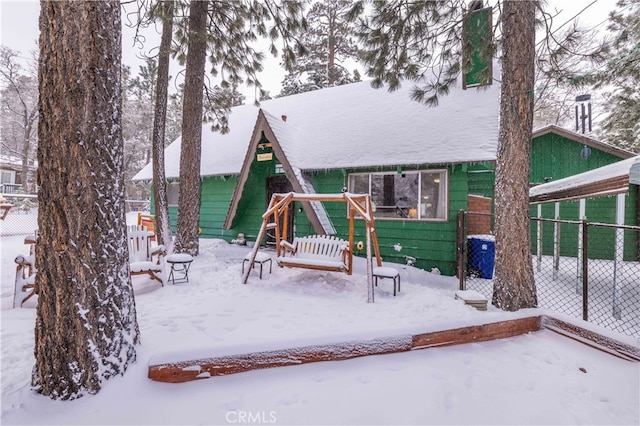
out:
<path id="1" fill-rule="evenodd" d="M 491 2 L 493 3 L 493 1 Z M 602 24 L 606 20 L 608 13 L 615 9 L 616 0 L 549 0 L 548 10 L 558 11 L 559 15 L 555 22 L 564 23 L 572 18 L 582 9 L 588 6 L 587 10 L 580 15 L 580 22 L 592 27 L 599 25 L 604 29 L 606 24 Z M 38 14 L 40 4 L 35 0 L 0 0 L 0 44 L 8 46 L 13 50 L 26 53 L 35 47 L 35 41 L 38 38 Z M 126 14 L 123 13 L 123 23 L 126 22 Z M 151 40 L 151 33 L 149 33 Z M 142 65 L 139 59 L 140 53 L 149 53 L 153 47 L 151 43 L 143 49 L 134 46 L 134 32 L 126 26 L 123 28 L 123 62 L 130 65 L 135 72 Z M 159 43 L 159 36 L 156 38 L 156 44 Z M 266 52 L 266 49 L 265 49 Z M 265 71 L 260 75 L 260 79 L 264 88 L 275 95 L 280 92 L 281 82 L 285 72 L 279 66 L 279 59 L 273 58 L 270 54 L 266 54 Z M 172 74 L 176 75 L 179 69 L 177 66 L 172 68 Z M 363 76 L 366 78 L 366 76 Z M 254 90 L 244 89 L 243 93 L 247 96 L 247 103 L 253 100 Z"/>

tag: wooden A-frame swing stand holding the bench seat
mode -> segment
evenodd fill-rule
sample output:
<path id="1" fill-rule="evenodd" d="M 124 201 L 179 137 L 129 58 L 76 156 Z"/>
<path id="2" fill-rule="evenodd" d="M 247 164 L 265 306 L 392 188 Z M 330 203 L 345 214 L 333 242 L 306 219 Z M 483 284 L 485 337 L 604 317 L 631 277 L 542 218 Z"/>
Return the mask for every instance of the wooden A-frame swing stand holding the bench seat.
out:
<path id="1" fill-rule="evenodd" d="M 344 271 L 348 275 L 352 273 L 353 265 L 353 246 L 354 246 L 354 222 L 356 214 L 362 218 L 365 222 L 365 234 L 366 234 L 366 249 L 367 249 L 367 284 L 369 287 L 368 302 L 373 302 L 373 258 L 371 247 L 373 245 L 374 256 L 376 257 L 377 266 L 382 266 L 382 258 L 380 257 L 380 249 L 378 246 L 378 235 L 376 233 L 375 219 L 373 217 L 373 206 L 371 204 L 371 196 L 369 194 L 351 194 L 343 192 L 340 194 L 302 194 L 289 192 L 286 194 L 273 194 L 267 211 L 262 215 L 262 226 L 260 232 L 256 238 L 253 251 L 251 252 L 249 265 L 253 265 L 258 249 L 262 244 L 262 239 L 265 237 L 267 230 L 273 229 L 276 239 L 276 255 L 280 257 L 283 253 L 283 248 L 280 244 L 283 235 L 288 235 L 289 231 L 289 209 L 291 203 L 294 201 L 299 202 L 343 202 L 349 206 L 349 247 L 348 247 L 348 262 L 347 269 Z M 281 219 L 282 218 L 282 219 Z M 290 267 L 296 267 L 295 265 L 287 265 Z M 304 267 L 304 266 L 298 266 Z M 310 267 L 310 266 L 306 266 Z M 313 269 L 320 270 L 332 270 L 329 268 L 323 268 L 322 266 L 313 266 Z M 243 283 L 246 284 L 249 279 L 251 268 L 247 268 L 244 272 Z"/>

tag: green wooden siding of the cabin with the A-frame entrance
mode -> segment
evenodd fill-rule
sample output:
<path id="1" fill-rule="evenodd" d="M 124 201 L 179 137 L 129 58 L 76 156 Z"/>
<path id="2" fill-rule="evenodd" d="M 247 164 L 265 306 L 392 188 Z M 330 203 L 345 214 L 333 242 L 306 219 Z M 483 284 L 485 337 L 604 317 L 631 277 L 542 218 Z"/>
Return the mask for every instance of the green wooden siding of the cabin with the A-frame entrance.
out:
<path id="1" fill-rule="evenodd" d="M 206 177 L 202 180 L 202 204 L 200 209 L 200 227 L 204 238 L 222 238 L 231 241 L 238 233 L 244 233 L 248 240 L 255 240 L 262 224 L 262 214 L 267 204 L 266 181 L 275 175 L 275 164 L 272 161 L 254 161 L 244 187 L 236 217 L 232 228 L 224 231 L 222 226 L 229 209 L 237 176 Z M 430 167 L 413 167 L 411 170 L 426 170 Z M 405 256 L 416 258 L 416 266 L 425 270 L 438 268 L 444 275 L 454 275 L 456 266 L 456 215 L 459 210 L 467 208 L 469 173 L 467 165 L 439 165 L 434 169 L 449 170 L 449 208 L 448 220 L 427 222 L 412 220 L 376 220 L 378 243 L 383 260 L 405 264 Z M 395 168 L 386 169 L 395 170 Z M 406 169 L 407 171 L 409 169 Z M 316 171 L 309 178 L 317 193 L 340 193 L 347 184 L 349 173 L 376 170 L 327 170 Z M 477 184 L 483 193 L 489 191 L 486 185 L 492 186 L 492 179 L 482 180 Z M 484 185 L 484 186 L 483 186 Z M 491 191 L 489 191 L 491 192 Z M 347 239 L 349 236 L 349 220 L 344 203 L 323 203 L 333 223 L 337 236 Z M 299 202 L 294 205 L 295 232 L 297 236 L 314 233 L 313 228 L 300 208 Z M 175 229 L 177 208 L 170 208 L 171 223 Z M 355 241 L 365 241 L 365 229 L 362 220 L 356 220 Z M 356 252 L 357 256 L 365 256 L 365 250 Z"/>

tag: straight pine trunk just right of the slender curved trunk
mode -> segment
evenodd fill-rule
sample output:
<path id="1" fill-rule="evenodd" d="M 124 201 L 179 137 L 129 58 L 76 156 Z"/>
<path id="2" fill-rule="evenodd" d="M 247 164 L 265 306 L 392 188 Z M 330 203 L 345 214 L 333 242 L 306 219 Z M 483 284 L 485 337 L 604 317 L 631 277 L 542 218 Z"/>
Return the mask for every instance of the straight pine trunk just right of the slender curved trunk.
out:
<path id="1" fill-rule="evenodd" d="M 207 59 L 207 6 L 207 1 L 191 1 L 182 110 L 180 195 L 175 250 L 192 256 L 197 256 L 199 251 L 200 157 L 202 100 Z"/>

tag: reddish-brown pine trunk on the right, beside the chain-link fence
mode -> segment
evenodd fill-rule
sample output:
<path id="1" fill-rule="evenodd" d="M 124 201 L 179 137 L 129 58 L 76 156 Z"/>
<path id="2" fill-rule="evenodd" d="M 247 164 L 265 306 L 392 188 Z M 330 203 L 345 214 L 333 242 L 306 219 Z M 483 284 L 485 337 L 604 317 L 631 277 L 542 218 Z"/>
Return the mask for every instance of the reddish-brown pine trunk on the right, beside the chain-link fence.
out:
<path id="1" fill-rule="evenodd" d="M 502 4 L 502 91 L 492 302 L 504 310 L 515 311 L 538 303 L 529 225 L 536 6 L 534 1 Z"/>

